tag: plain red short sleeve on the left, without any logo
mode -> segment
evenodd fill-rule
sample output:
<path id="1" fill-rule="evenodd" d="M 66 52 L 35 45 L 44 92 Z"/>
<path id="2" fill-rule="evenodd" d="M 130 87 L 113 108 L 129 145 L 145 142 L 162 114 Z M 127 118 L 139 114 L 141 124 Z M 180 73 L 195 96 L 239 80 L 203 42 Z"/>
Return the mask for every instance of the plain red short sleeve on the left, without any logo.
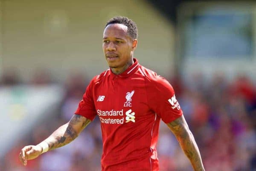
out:
<path id="1" fill-rule="evenodd" d="M 89 120 L 93 120 L 95 118 L 96 109 L 93 101 L 93 80 L 87 86 L 83 99 L 79 102 L 75 114 L 84 116 Z"/>

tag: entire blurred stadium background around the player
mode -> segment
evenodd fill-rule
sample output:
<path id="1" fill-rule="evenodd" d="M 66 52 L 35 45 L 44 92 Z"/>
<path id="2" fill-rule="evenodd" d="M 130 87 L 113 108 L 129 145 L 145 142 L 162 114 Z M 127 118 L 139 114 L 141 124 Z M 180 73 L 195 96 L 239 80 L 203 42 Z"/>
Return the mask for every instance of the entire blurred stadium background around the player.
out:
<path id="1" fill-rule="evenodd" d="M 23 167 L 18 154 L 76 110 L 108 68 L 105 23 L 137 23 L 134 57 L 173 85 L 207 171 L 256 171 L 256 3 L 185 0 L 0 0 L 0 171 L 100 171 L 99 119 Z M 192 171 L 167 126 L 160 171 Z"/>

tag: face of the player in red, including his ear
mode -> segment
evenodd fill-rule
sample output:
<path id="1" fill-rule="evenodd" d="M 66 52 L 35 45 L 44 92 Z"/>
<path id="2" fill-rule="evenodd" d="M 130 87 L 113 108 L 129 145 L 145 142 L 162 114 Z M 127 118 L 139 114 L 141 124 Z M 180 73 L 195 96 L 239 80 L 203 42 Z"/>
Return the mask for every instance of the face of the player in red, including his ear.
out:
<path id="1" fill-rule="evenodd" d="M 129 64 L 133 64 L 133 51 L 137 40 L 133 40 L 127 33 L 127 26 L 123 24 L 109 24 L 103 32 L 102 48 L 110 68 L 122 71 Z"/>

